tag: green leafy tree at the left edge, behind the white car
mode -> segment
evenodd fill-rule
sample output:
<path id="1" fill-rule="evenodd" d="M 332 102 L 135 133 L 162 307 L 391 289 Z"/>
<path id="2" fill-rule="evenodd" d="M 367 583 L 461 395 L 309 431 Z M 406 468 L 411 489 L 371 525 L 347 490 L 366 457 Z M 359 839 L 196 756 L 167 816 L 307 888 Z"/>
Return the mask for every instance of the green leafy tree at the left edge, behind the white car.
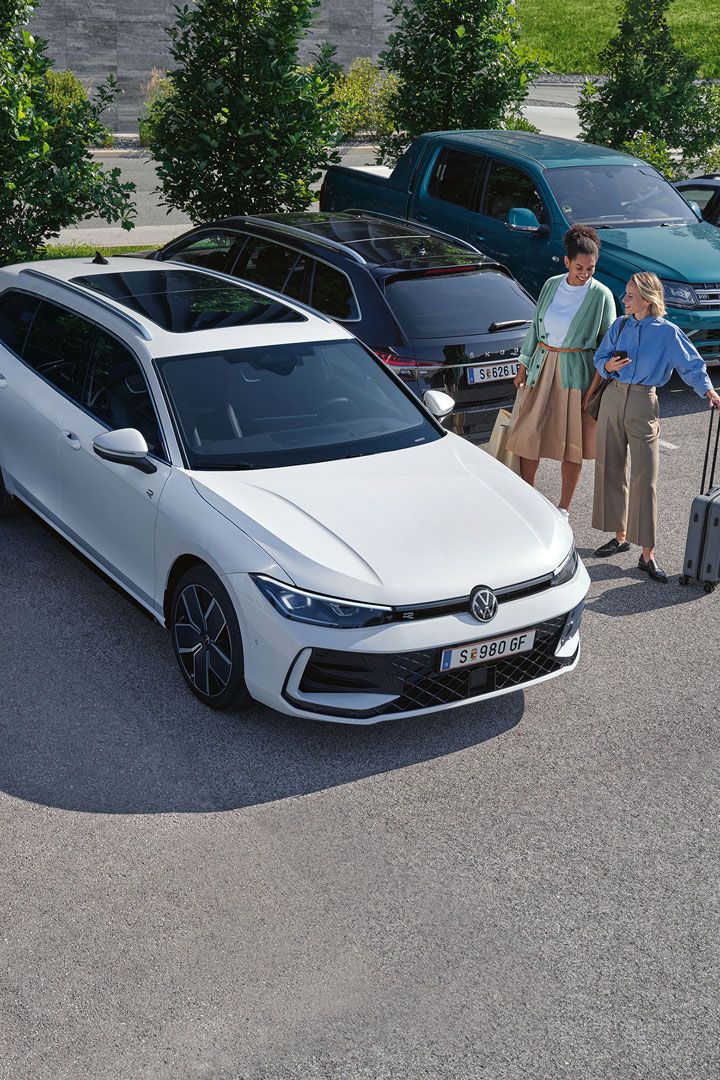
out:
<path id="1" fill-rule="evenodd" d="M 45 42 L 24 27 L 29 0 L 0 0 L 0 262 L 31 258 L 60 229 L 87 217 L 131 229 L 133 184 L 104 172 L 90 150 L 104 143 L 100 117 L 117 87 L 92 100 L 58 96 Z"/>

